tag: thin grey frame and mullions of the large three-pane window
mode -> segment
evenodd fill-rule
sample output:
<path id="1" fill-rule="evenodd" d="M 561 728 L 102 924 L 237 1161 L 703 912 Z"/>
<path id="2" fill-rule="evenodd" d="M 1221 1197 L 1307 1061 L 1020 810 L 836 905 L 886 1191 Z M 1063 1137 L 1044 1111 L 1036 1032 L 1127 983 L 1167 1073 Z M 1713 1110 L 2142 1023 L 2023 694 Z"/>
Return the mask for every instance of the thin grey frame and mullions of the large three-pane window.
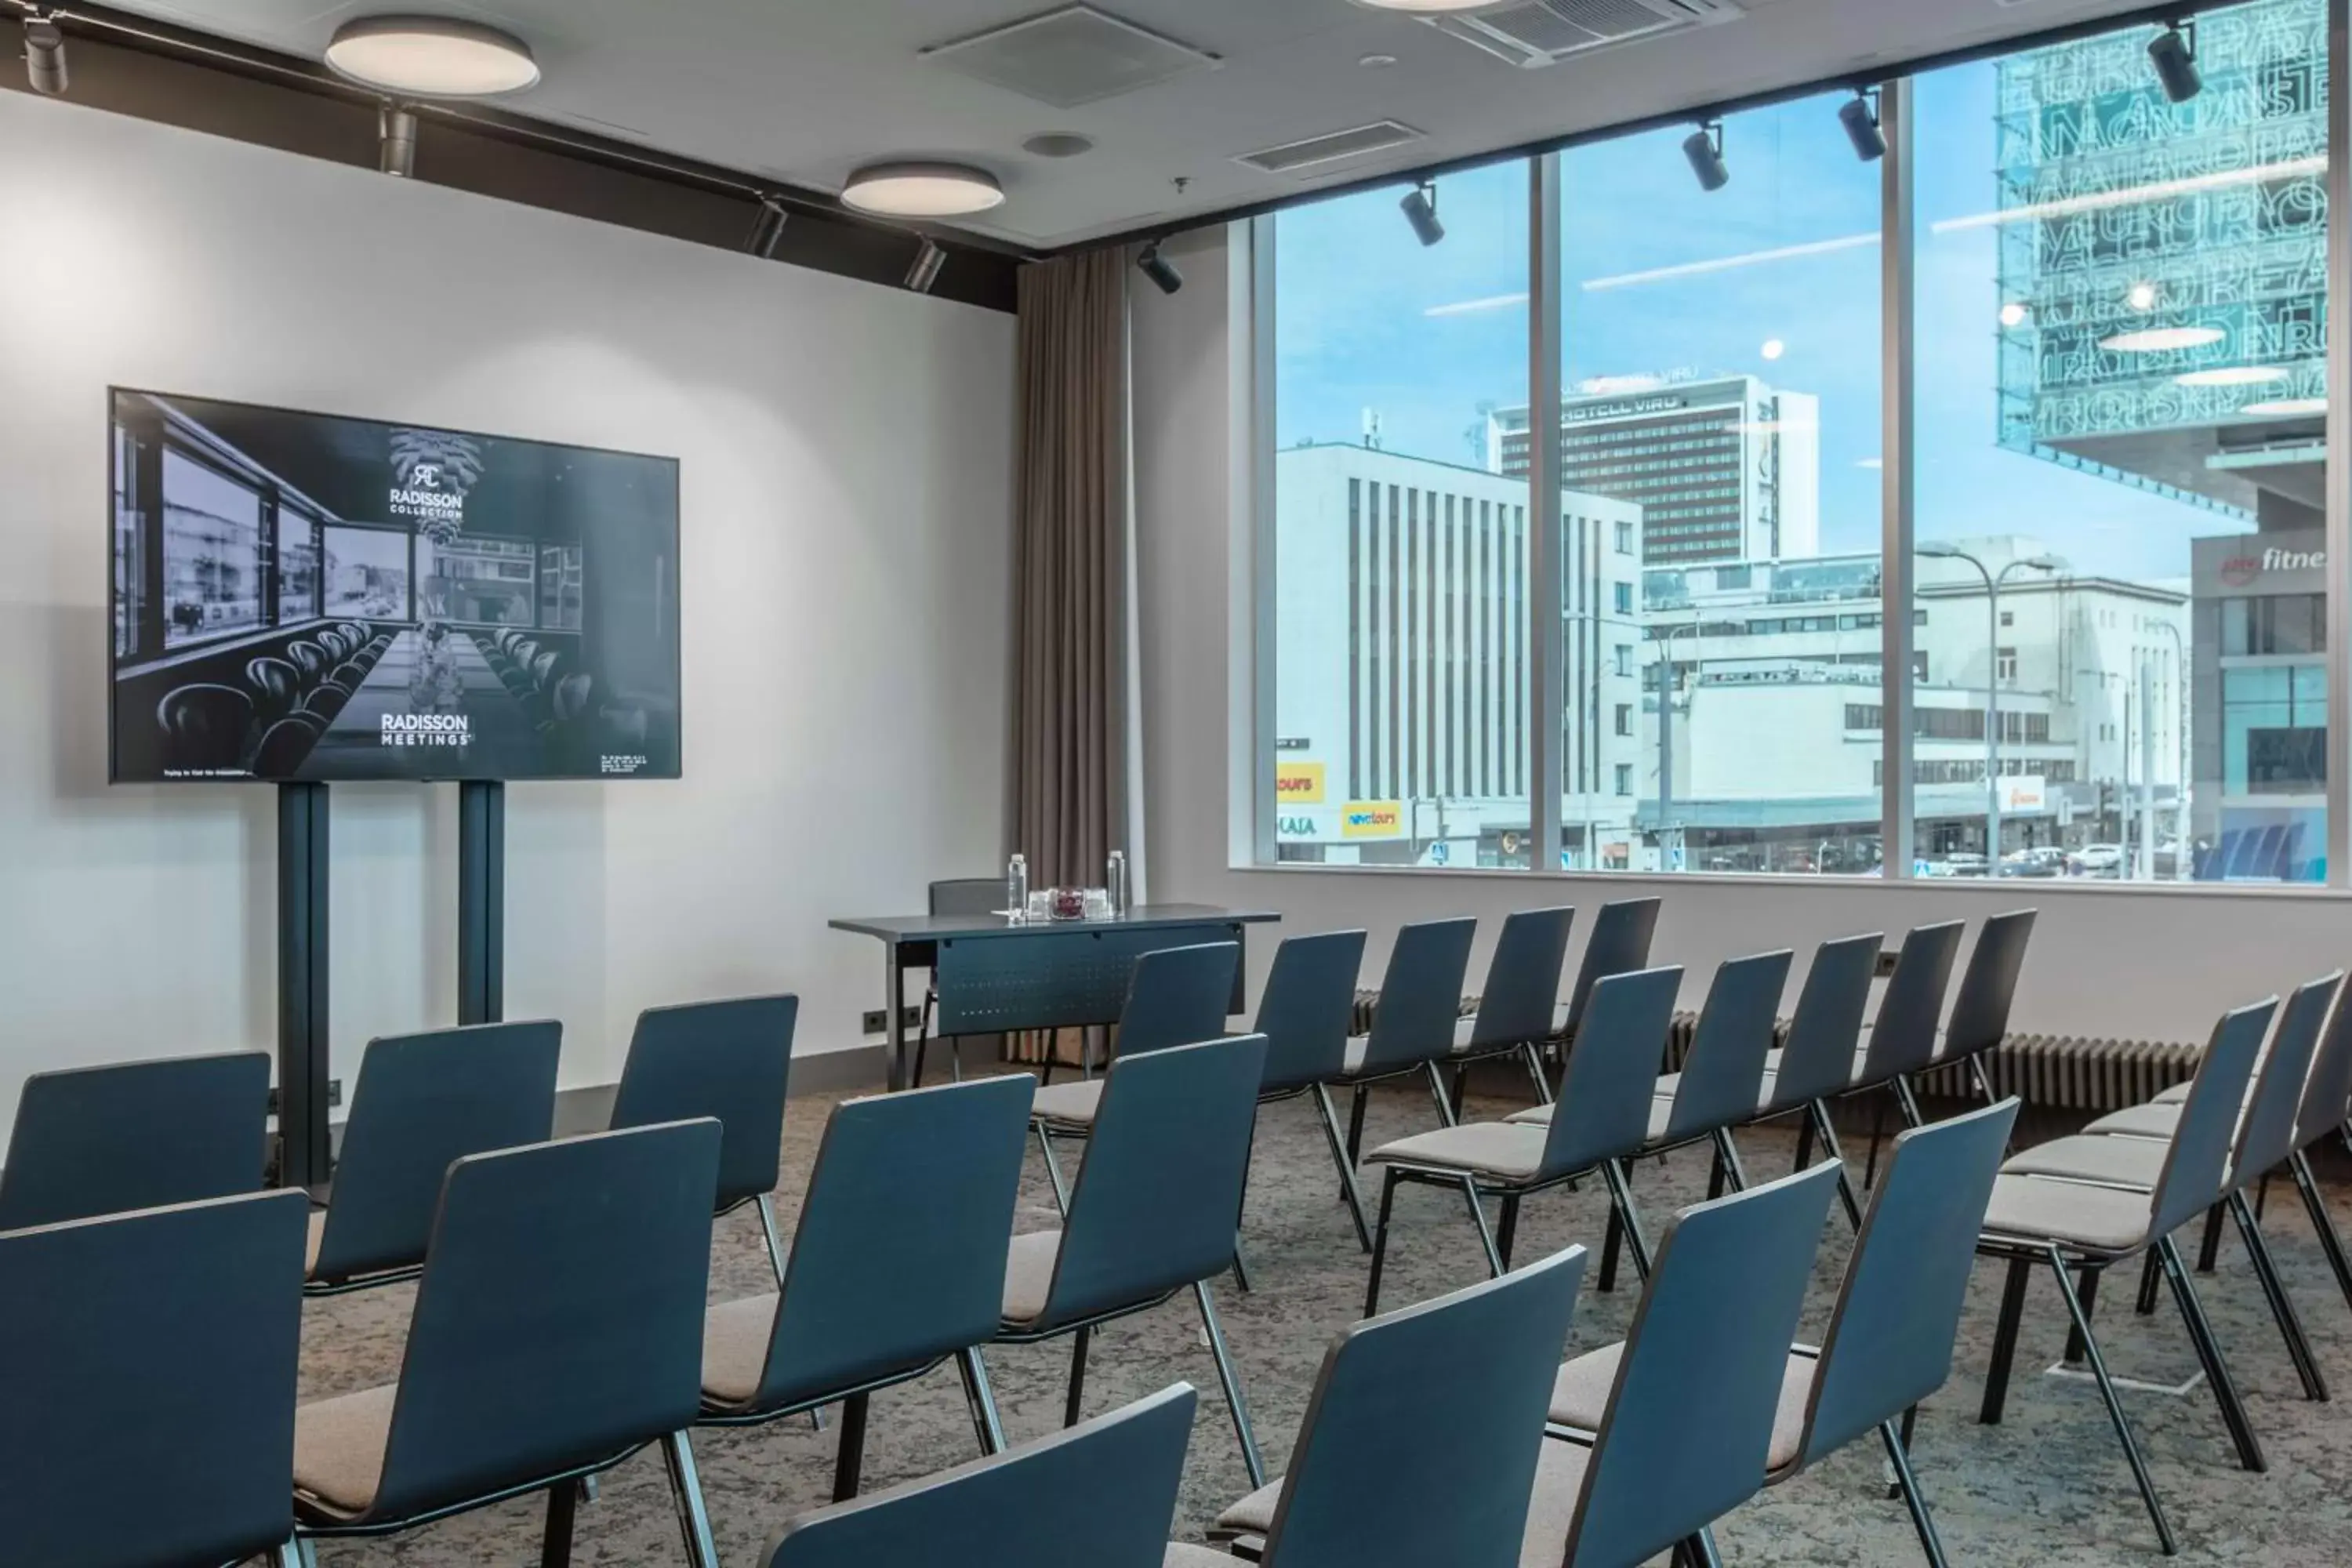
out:
<path id="1" fill-rule="evenodd" d="M 2225 0 L 2227 2 L 2227 0 Z M 2185 5 L 2185 12 L 2223 9 L 2223 5 Z M 2140 26 L 2143 19 L 2119 16 L 2100 31 L 2124 31 Z M 2063 35 L 2077 33 L 2079 28 L 2027 33 L 2018 38 L 2002 40 L 1997 47 L 1976 52 L 1976 59 L 1994 59 L 2011 52 L 2027 52 L 2034 47 L 2046 47 L 2058 42 Z M 2352 308 L 2352 49 L 2347 49 L 2345 38 L 2352 31 L 2352 0 L 2328 0 L 2328 59 L 2326 59 L 2326 82 L 2328 82 L 2328 169 L 2326 169 L 2326 195 L 2328 195 L 2328 244 L 2326 244 L 2326 280 L 2328 280 L 2328 315 L 2333 317 L 2340 308 Z M 1905 670 L 1912 668 L 1919 679 L 1924 679 L 1922 663 L 1924 654 L 1917 649 L 1917 630 L 1926 625 L 1926 607 L 1915 595 L 1915 418 L 1917 418 L 1917 381 L 1915 381 L 1915 331 L 1917 331 L 1917 292 L 1915 268 L 1917 268 L 1917 237 L 1915 237 L 1915 202 L 1912 202 L 1912 94 L 1910 80 L 1926 71 L 1936 71 L 1947 61 L 1922 61 L 1905 66 L 1893 75 L 1872 82 L 1879 96 L 1879 125 L 1886 139 L 1886 155 L 1879 160 L 1879 223 L 1882 223 L 1882 275 L 1879 275 L 1879 329 L 1882 329 L 1882 581 L 1879 597 L 1882 604 L 1910 604 L 1910 614 L 1882 614 L 1879 616 L 1879 668 L 1882 670 Z M 1792 87 L 1788 92 L 1769 94 L 1764 101 L 1797 99 L 1816 92 L 1830 92 L 1837 87 L 1851 87 L 1851 80 L 1825 80 L 1811 87 Z M 1722 113 L 1731 113 L 1736 106 L 1726 106 Z M 1583 132 L 1576 136 L 1562 136 L 1550 146 L 1550 150 L 1529 153 L 1526 148 L 1512 148 L 1498 153 L 1494 162 L 1524 160 L 1529 169 L 1529 207 L 1531 207 L 1531 268 L 1529 268 L 1529 480 L 1531 480 L 1531 505 L 1529 505 L 1529 550 L 1526 564 L 1522 567 L 1531 592 L 1526 595 L 1526 637 L 1529 637 L 1529 703 L 1515 719 L 1526 719 L 1531 724 L 1526 764 L 1529 764 L 1529 837 L 1536 844 L 1559 844 L 1559 799 L 1564 780 L 1562 766 L 1562 729 L 1573 717 L 1562 710 L 1562 682 L 1557 670 L 1557 656 L 1545 658 L 1545 644 L 1557 649 L 1557 625 L 1559 625 L 1559 595 L 1557 590 L 1545 595 L 1541 585 L 1545 578 L 1557 583 L 1559 562 L 1559 484 L 1562 473 L 1562 440 L 1559 440 L 1559 404 L 1562 404 L 1562 331 L 1566 301 L 1559 287 L 1559 223 L 1564 216 L 1562 200 L 1562 148 L 1606 141 L 1616 136 L 1632 136 L 1649 129 L 1646 125 L 1618 125 L 1595 132 Z M 1399 174 L 1397 183 L 1409 183 L 1414 174 Z M 1705 884 L 1705 882 L 1762 882 L 1773 886 L 1788 886 L 1790 872 L 1724 872 L 1724 870 L 1658 870 L 1658 872 L 1628 872 L 1628 870 L 1566 870 L 1548 865 L 1543 856 L 1529 856 L 1526 867 L 1355 867 L 1355 865 L 1327 865 L 1327 863 L 1298 863 L 1282 860 L 1279 846 L 1275 844 L 1275 679 L 1272 679 L 1272 649 L 1275 649 L 1275 242 L 1272 226 L 1275 214 L 1247 216 L 1228 223 L 1228 247 L 1240 252 L 1232 277 L 1244 282 L 1237 292 L 1237 308 L 1230 317 L 1230 341 L 1237 355 L 1237 364 L 1244 374 L 1249 416 L 1235 423 L 1235 440 L 1247 442 L 1247 451 L 1240 451 L 1247 484 L 1237 491 L 1247 496 L 1247 510 L 1237 517 L 1237 541 L 1247 545 L 1251 555 L 1251 571 L 1247 576 L 1237 574 L 1235 592 L 1237 609 L 1247 611 L 1247 623 L 1254 630 L 1254 639 L 1244 658 L 1251 661 L 1251 724 L 1249 741 L 1254 745 L 1254 762 L 1247 771 L 1247 790 L 1237 790 L 1230 802 L 1230 865 L 1235 870 L 1312 870 L 1312 872 L 1416 872 L 1416 875 L 1475 875 L 1475 877 L 1510 877 L 1531 875 L 1566 882 L 1602 882 L 1604 886 L 1632 886 L 1632 884 Z M 2103 882 L 2103 879 L 2051 879 L 2037 882 L 2034 893 L 2044 891 L 2058 896 L 2171 896 L 2171 898 L 2343 898 L 2352 889 L 2352 766 L 2343 755 L 2345 745 L 2352 745 L 2352 668 L 2345 668 L 2347 656 L 2352 656 L 2352 581 L 2347 581 L 2347 564 L 2352 564 L 2352 331 L 2328 331 L 2326 343 L 2326 388 L 2328 402 L 2338 409 L 2336 416 L 2326 421 L 2324 435 L 2324 463 L 2331 482 L 2326 484 L 2326 508 L 2324 508 L 2324 548 L 2328 559 L 2328 576 L 2324 590 L 2324 604 L 2319 614 L 2319 637 L 2324 642 L 2326 691 L 2326 741 L 2321 748 L 2324 785 L 2326 785 L 2326 882 Z M 1552 480 L 1552 482 L 1545 482 Z M 1623 538 L 1623 527 L 1618 529 Z M 1618 583 L 1616 590 L 1625 592 L 1628 585 Z M 2251 614 L 2251 611 L 2246 611 Z M 1644 632 L 1646 635 L 1646 632 Z M 2251 646 L 2251 644 L 2249 644 Z M 1994 656 L 1997 658 L 1997 656 Z M 2246 654 L 2230 654 L 2223 642 L 2213 644 L 2211 661 L 2232 658 L 2244 661 Z M 1545 665 L 1552 665 L 1545 670 Z M 2199 661 L 2204 665 L 2204 661 Z M 2194 668 L 2190 675 L 2194 677 Z M 2218 670 L 2218 665 L 2216 665 Z M 1639 679 L 1639 672 L 1637 672 Z M 1994 675 L 1994 679 L 2002 679 Z M 2013 679 L 2013 672 L 2011 677 Z M 1891 682 L 1882 684 L 1879 703 L 1879 726 L 1877 726 L 1877 762 L 1875 778 L 1879 780 L 1882 795 L 1882 820 L 1879 835 L 1889 846 L 1915 844 L 1915 813 L 1912 797 L 1915 790 L 1905 780 L 1917 778 L 1915 764 L 1915 684 Z M 1642 701 L 1656 701 L 1649 686 L 1642 689 Z M 1501 717 L 1501 715 L 1498 715 Z M 1851 717 L 1851 710 L 1849 710 Z M 1980 710 L 1978 710 L 1978 717 Z M 2030 719 L 2027 719 L 2030 722 Z M 2044 726 L 2049 717 L 2042 715 Z M 2004 715 L 2006 729 L 2006 715 Z M 1867 736 L 1870 731 L 1853 731 L 1846 726 L 1846 738 Z M 1980 766 L 1980 764 L 1978 764 Z M 1893 780 L 1893 783 L 1886 783 Z M 2220 788 L 2220 780 L 2216 780 Z M 1865 882 L 1860 875 L 1851 872 L 1813 872 L 1811 882 L 1823 879 L 1846 879 Z M 1877 884 L 1926 884 L 1936 891 L 1950 891 L 1955 884 L 1950 879 L 1922 879 L 1915 877 L 1912 853 L 1896 851 L 1886 856 L 1877 875 L 1867 882 Z M 1987 882 L 1985 889 L 1999 889 L 1999 882 Z"/>

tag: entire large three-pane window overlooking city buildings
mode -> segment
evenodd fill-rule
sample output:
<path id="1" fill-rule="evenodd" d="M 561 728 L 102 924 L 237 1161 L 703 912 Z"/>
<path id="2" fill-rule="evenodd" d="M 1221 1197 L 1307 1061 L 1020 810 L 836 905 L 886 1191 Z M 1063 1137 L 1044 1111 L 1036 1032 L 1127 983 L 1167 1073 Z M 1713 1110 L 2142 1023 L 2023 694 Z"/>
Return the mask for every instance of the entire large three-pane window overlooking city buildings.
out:
<path id="1" fill-rule="evenodd" d="M 1254 223 L 1261 844 L 2328 882 L 2328 0 L 2157 33 Z"/>

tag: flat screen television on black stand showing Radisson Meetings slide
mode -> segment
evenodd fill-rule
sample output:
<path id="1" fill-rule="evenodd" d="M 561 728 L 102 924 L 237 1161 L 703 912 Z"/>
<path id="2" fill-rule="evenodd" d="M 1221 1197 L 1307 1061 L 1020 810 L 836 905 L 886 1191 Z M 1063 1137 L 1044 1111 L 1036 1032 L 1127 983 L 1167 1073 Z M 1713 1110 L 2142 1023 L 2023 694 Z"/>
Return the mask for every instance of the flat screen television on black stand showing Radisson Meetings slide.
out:
<path id="1" fill-rule="evenodd" d="M 115 783 L 677 778 L 677 461 L 113 388 Z"/>

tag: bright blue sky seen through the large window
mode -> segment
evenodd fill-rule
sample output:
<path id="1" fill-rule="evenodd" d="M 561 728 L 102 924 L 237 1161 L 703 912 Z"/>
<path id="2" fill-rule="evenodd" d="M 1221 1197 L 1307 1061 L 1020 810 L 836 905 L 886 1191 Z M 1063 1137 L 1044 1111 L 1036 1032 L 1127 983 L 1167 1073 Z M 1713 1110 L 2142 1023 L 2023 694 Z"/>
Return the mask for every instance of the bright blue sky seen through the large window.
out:
<path id="1" fill-rule="evenodd" d="M 2190 538 L 2246 524 L 1994 440 L 1997 230 L 1933 233 L 1997 207 L 1992 87 L 1990 63 L 1917 85 L 1919 536 L 2032 534 L 2074 571 L 2183 578 Z M 1877 550 L 1879 169 L 1853 158 L 1839 101 L 1731 118 L 1717 193 L 1684 165 L 1686 127 L 1566 153 L 1564 376 L 1748 371 L 1820 397 L 1823 550 Z M 1482 409 L 1526 402 L 1526 167 L 1439 181 L 1449 237 L 1428 249 L 1402 190 L 1277 221 L 1275 440 L 1362 440 L 1369 407 L 1390 451 L 1477 465 Z"/>

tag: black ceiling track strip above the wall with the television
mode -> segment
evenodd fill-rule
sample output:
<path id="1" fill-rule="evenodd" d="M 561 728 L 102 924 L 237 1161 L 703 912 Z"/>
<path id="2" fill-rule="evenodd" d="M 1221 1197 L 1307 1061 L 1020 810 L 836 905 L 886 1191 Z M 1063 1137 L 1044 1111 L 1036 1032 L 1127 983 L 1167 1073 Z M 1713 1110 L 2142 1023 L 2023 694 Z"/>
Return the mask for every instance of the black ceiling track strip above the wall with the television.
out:
<path id="1" fill-rule="evenodd" d="M 103 5 L 40 9 L 66 33 L 71 103 L 376 167 L 376 113 L 390 99 L 318 61 Z M 12 12 L 31 14 L 31 7 L 21 0 L 0 7 L 0 26 Z M 0 87 L 31 92 L 21 71 L 0 71 Z M 1014 308 L 1014 277 L 1035 259 L 1035 252 L 985 235 L 882 223 L 823 190 L 487 103 L 402 99 L 400 108 L 416 115 L 414 179 L 435 186 L 731 252 L 743 249 L 762 200 L 774 200 L 790 214 L 774 261 L 896 289 L 929 235 L 948 252 L 929 292 L 990 310 Z"/>

